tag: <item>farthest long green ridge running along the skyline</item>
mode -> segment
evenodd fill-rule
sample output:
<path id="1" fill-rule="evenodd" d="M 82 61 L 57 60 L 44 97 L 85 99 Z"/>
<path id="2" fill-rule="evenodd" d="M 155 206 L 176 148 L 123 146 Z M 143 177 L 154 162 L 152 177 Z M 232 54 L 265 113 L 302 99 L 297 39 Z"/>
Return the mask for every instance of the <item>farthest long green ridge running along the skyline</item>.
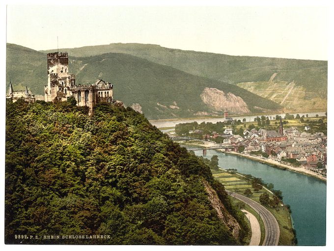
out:
<path id="1" fill-rule="evenodd" d="M 61 49 L 71 56 L 125 53 L 165 64 L 181 71 L 213 80 L 237 84 L 268 81 L 295 82 L 306 89 L 306 100 L 327 98 L 327 61 L 183 51 L 151 44 L 109 44 Z M 268 83 L 270 84 L 270 83 Z"/>

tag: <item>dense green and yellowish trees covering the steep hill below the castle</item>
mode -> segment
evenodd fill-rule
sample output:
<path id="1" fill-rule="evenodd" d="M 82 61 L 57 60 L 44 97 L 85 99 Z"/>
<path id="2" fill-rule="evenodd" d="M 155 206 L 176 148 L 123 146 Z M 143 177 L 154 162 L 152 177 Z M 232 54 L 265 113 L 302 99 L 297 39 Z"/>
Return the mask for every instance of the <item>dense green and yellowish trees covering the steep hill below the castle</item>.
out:
<path id="1" fill-rule="evenodd" d="M 241 243 L 244 216 L 203 160 L 131 108 L 99 104 L 92 117 L 87 112 L 69 102 L 7 104 L 6 243 Z M 240 240 L 218 218 L 203 180 L 241 225 Z"/>

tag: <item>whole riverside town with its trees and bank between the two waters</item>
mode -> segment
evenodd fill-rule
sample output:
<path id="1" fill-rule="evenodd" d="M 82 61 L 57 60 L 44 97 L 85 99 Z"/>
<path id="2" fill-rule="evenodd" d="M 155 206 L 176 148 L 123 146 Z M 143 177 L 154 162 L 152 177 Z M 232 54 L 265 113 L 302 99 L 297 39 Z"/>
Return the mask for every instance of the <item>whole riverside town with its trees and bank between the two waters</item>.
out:
<path id="1" fill-rule="evenodd" d="M 324 122 L 327 116 L 307 118 L 297 114 L 294 118 L 286 113 L 284 119 L 287 120 L 282 121 L 278 115 L 274 118 L 256 117 L 255 126 L 246 123 L 245 119 L 243 122 L 233 120 L 225 112 L 223 122 L 178 124 L 169 137 L 174 140 L 192 140 L 194 144 L 204 141 L 207 148 L 221 149 L 327 177 L 327 124 Z M 294 119 L 298 126 L 286 126 L 289 119 Z M 271 125 L 273 121 L 274 125 Z M 248 128 L 245 128 L 246 124 L 249 124 Z M 200 141 L 196 143 L 194 140 Z"/>

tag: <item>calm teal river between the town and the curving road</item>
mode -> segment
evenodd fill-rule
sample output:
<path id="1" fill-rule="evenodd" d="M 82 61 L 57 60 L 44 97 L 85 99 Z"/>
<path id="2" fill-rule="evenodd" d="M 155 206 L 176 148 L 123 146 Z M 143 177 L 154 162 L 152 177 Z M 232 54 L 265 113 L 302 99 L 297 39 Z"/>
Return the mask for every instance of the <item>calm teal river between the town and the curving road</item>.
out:
<path id="1" fill-rule="evenodd" d="M 187 149 L 196 147 L 186 146 Z M 197 147 L 198 149 L 198 147 Z M 202 151 L 195 151 L 198 156 Z M 326 244 L 326 184 L 315 178 L 270 167 L 246 158 L 207 150 L 206 158 L 218 155 L 219 166 L 234 168 L 251 174 L 274 189 L 282 191 L 283 202 L 291 206 L 292 219 L 297 232 L 298 246 L 323 246 Z"/>

